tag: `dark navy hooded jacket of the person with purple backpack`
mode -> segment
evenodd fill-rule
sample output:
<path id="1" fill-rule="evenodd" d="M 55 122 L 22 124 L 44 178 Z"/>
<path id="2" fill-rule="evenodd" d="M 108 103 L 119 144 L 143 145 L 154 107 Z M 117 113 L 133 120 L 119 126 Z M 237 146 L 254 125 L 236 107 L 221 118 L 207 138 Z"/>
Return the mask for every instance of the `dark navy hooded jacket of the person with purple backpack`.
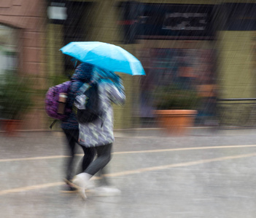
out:
<path id="1" fill-rule="evenodd" d="M 71 86 L 69 89 L 68 100 L 66 107 L 73 108 L 74 99 L 77 96 L 79 88 L 85 82 L 90 82 L 90 78 L 93 72 L 93 65 L 87 63 L 80 64 L 74 71 L 71 77 Z M 72 112 L 65 121 L 61 124 L 62 129 L 78 129 L 78 123 L 76 115 Z"/>

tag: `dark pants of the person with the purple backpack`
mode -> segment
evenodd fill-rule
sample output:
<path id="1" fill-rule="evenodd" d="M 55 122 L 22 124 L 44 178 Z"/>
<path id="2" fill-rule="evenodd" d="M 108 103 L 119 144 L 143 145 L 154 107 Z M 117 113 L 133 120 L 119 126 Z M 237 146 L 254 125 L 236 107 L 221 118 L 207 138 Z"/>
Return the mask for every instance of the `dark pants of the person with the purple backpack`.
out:
<path id="1" fill-rule="evenodd" d="M 76 143 L 78 144 L 79 130 L 78 129 L 63 129 L 66 134 L 66 141 L 68 144 L 68 156 L 66 161 L 66 179 L 71 180 L 74 176 L 74 155 L 76 152 Z M 82 158 L 82 171 L 88 168 L 95 156 L 94 148 L 84 150 L 84 157 Z"/>

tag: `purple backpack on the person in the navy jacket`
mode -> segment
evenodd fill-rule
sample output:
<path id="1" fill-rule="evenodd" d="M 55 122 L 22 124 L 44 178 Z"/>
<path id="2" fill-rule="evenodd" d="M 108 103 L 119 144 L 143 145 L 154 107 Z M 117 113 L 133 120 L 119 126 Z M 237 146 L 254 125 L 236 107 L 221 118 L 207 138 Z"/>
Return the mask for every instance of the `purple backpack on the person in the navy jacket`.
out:
<path id="1" fill-rule="evenodd" d="M 58 120 L 65 120 L 68 118 L 69 113 L 71 113 L 70 108 L 65 108 L 65 113 L 58 113 L 58 100 L 60 93 L 69 93 L 69 87 L 71 86 L 71 81 L 66 81 L 63 84 L 58 84 L 57 86 L 50 87 L 45 95 L 45 110 L 48 116 Z"/>

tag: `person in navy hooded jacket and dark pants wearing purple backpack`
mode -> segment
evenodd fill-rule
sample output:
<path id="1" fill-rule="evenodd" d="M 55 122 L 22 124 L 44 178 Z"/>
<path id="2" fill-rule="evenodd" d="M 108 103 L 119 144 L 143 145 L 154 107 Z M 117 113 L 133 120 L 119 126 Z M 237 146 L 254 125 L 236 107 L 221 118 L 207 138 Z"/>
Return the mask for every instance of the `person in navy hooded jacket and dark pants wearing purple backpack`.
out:
<path id="1" fill-rule="evenodd" d="M 73 107 L 74 99 L 77 96 L 79 88 L 82 84 L 90 81 L 93 72 L 93 65 L 82 63 L 77 66 L 74 71 L 73 76 L 71 76 L 71 86 L 68 93 L 67 105 L 66 107 Z M 74 155 L 76 151 L 76 143 L 78 143 L 79 137 L 79 124 L 77 122 L 76 115 L 72 112 L 65 121 L 62 122 L 61 128 L 66 135 L 66 142 L 68 145 L 68 156 L 66 161 L 66 191 L 75 190 L 74 187 L 70 185 L 71 179 L 74 177 Z M 82 171 L 90 165 L 95 156 L 95 150 L 93 148 L 84 149 L 84 157 L 82 159 Z"/>

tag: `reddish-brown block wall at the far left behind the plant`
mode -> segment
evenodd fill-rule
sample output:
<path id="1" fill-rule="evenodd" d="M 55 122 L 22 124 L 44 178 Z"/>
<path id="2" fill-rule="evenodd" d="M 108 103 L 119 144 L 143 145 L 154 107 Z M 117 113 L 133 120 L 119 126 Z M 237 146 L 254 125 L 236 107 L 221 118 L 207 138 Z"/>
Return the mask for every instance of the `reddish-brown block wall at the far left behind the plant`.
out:
<path id="1" fill-rule="evenodd" d="M 0 1 L 0 23 L 18 28 L 19 73 L 30 76 L 34 89 L 45 89 L 45 4 L 44 0 Z M 23 129 L 42 129 L 42 94 L 34 94 L 35 105 Z"/>

